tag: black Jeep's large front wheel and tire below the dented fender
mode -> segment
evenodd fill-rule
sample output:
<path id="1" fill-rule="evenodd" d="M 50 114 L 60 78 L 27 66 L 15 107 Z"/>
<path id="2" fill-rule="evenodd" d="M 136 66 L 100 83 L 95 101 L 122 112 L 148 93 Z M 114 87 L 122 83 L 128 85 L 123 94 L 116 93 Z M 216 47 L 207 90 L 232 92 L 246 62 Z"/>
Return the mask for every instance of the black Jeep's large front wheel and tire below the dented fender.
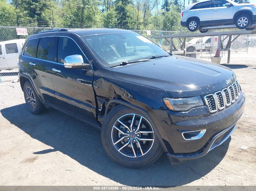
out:
<path id="1" fill-rule="evenodd" d="M 142 113 L 119 105 L 106 116 L 101 141 L 113 161 L 128 167 L 143 167 L 153 164 L 163 152 L 155 131 Z"/>

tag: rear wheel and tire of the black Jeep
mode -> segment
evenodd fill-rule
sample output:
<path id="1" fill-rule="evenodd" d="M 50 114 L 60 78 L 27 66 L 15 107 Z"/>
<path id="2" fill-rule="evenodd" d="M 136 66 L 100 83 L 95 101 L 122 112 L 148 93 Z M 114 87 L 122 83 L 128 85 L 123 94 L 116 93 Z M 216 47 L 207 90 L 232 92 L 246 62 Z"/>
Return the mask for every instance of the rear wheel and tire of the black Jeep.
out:
<path id="1" fill-rule="evenodd" d="M 25 97 L 25 102 L 31 113 L 38 115 L 47 110 L 43 103 L 39 100 L 34 88 L 31 83 L 26 81 L 23 87 L 23 93 Z"/>

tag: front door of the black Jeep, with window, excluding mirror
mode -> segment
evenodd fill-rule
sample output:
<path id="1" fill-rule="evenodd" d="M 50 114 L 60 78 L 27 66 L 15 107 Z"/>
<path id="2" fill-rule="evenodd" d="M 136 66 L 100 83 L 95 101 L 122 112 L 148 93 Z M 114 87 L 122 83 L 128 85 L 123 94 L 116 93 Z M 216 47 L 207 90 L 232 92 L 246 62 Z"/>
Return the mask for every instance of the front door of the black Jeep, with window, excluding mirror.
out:
<path id="1" fill-rule="evenodd" d="M 58 37 L 57 63 L 53 64 L 52 76 L 58 108 L 81 119 L 95 122 L 95 95 L 92 87 L 93 71 L 64 67 L 64 59 L 81 55 L 84 63 L 90 63 L 78 44 L 70 37 Z M 92 68 L 91 68 L 92 69 Z"/>

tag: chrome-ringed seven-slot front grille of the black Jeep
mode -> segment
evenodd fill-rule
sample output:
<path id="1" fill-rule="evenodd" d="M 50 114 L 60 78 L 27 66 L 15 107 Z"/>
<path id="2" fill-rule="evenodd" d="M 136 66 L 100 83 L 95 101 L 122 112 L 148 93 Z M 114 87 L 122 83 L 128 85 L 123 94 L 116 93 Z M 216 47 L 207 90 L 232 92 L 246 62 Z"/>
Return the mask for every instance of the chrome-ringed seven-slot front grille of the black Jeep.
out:
<path id="1" fill-rule="evenodd" d="M 238 99 L 241 92 L 240 85 L 236 80 L 233 84 L 224 88 L 221 91 L 217 91 L 214 94 L 204 96 L 204 100 L 209 107 L 211 113 L 218 110 L 222 110 L 225 107 L 230 106 L 235 100 Z"/>

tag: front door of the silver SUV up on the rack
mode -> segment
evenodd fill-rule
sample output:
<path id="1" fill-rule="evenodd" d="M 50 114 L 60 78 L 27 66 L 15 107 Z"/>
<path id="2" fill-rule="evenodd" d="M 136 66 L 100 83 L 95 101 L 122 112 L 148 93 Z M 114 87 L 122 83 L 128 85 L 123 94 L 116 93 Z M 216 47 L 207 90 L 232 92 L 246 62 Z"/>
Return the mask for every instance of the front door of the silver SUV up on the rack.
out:
<path id="1" fill-rule="evenodd" d="M 225 0 L 215 0 L 214 9 L 212 13 L 213 24 L 231 24 L 233 18 L 233 6 L 226 7 L 225 4 L 229 3 Z"/>

